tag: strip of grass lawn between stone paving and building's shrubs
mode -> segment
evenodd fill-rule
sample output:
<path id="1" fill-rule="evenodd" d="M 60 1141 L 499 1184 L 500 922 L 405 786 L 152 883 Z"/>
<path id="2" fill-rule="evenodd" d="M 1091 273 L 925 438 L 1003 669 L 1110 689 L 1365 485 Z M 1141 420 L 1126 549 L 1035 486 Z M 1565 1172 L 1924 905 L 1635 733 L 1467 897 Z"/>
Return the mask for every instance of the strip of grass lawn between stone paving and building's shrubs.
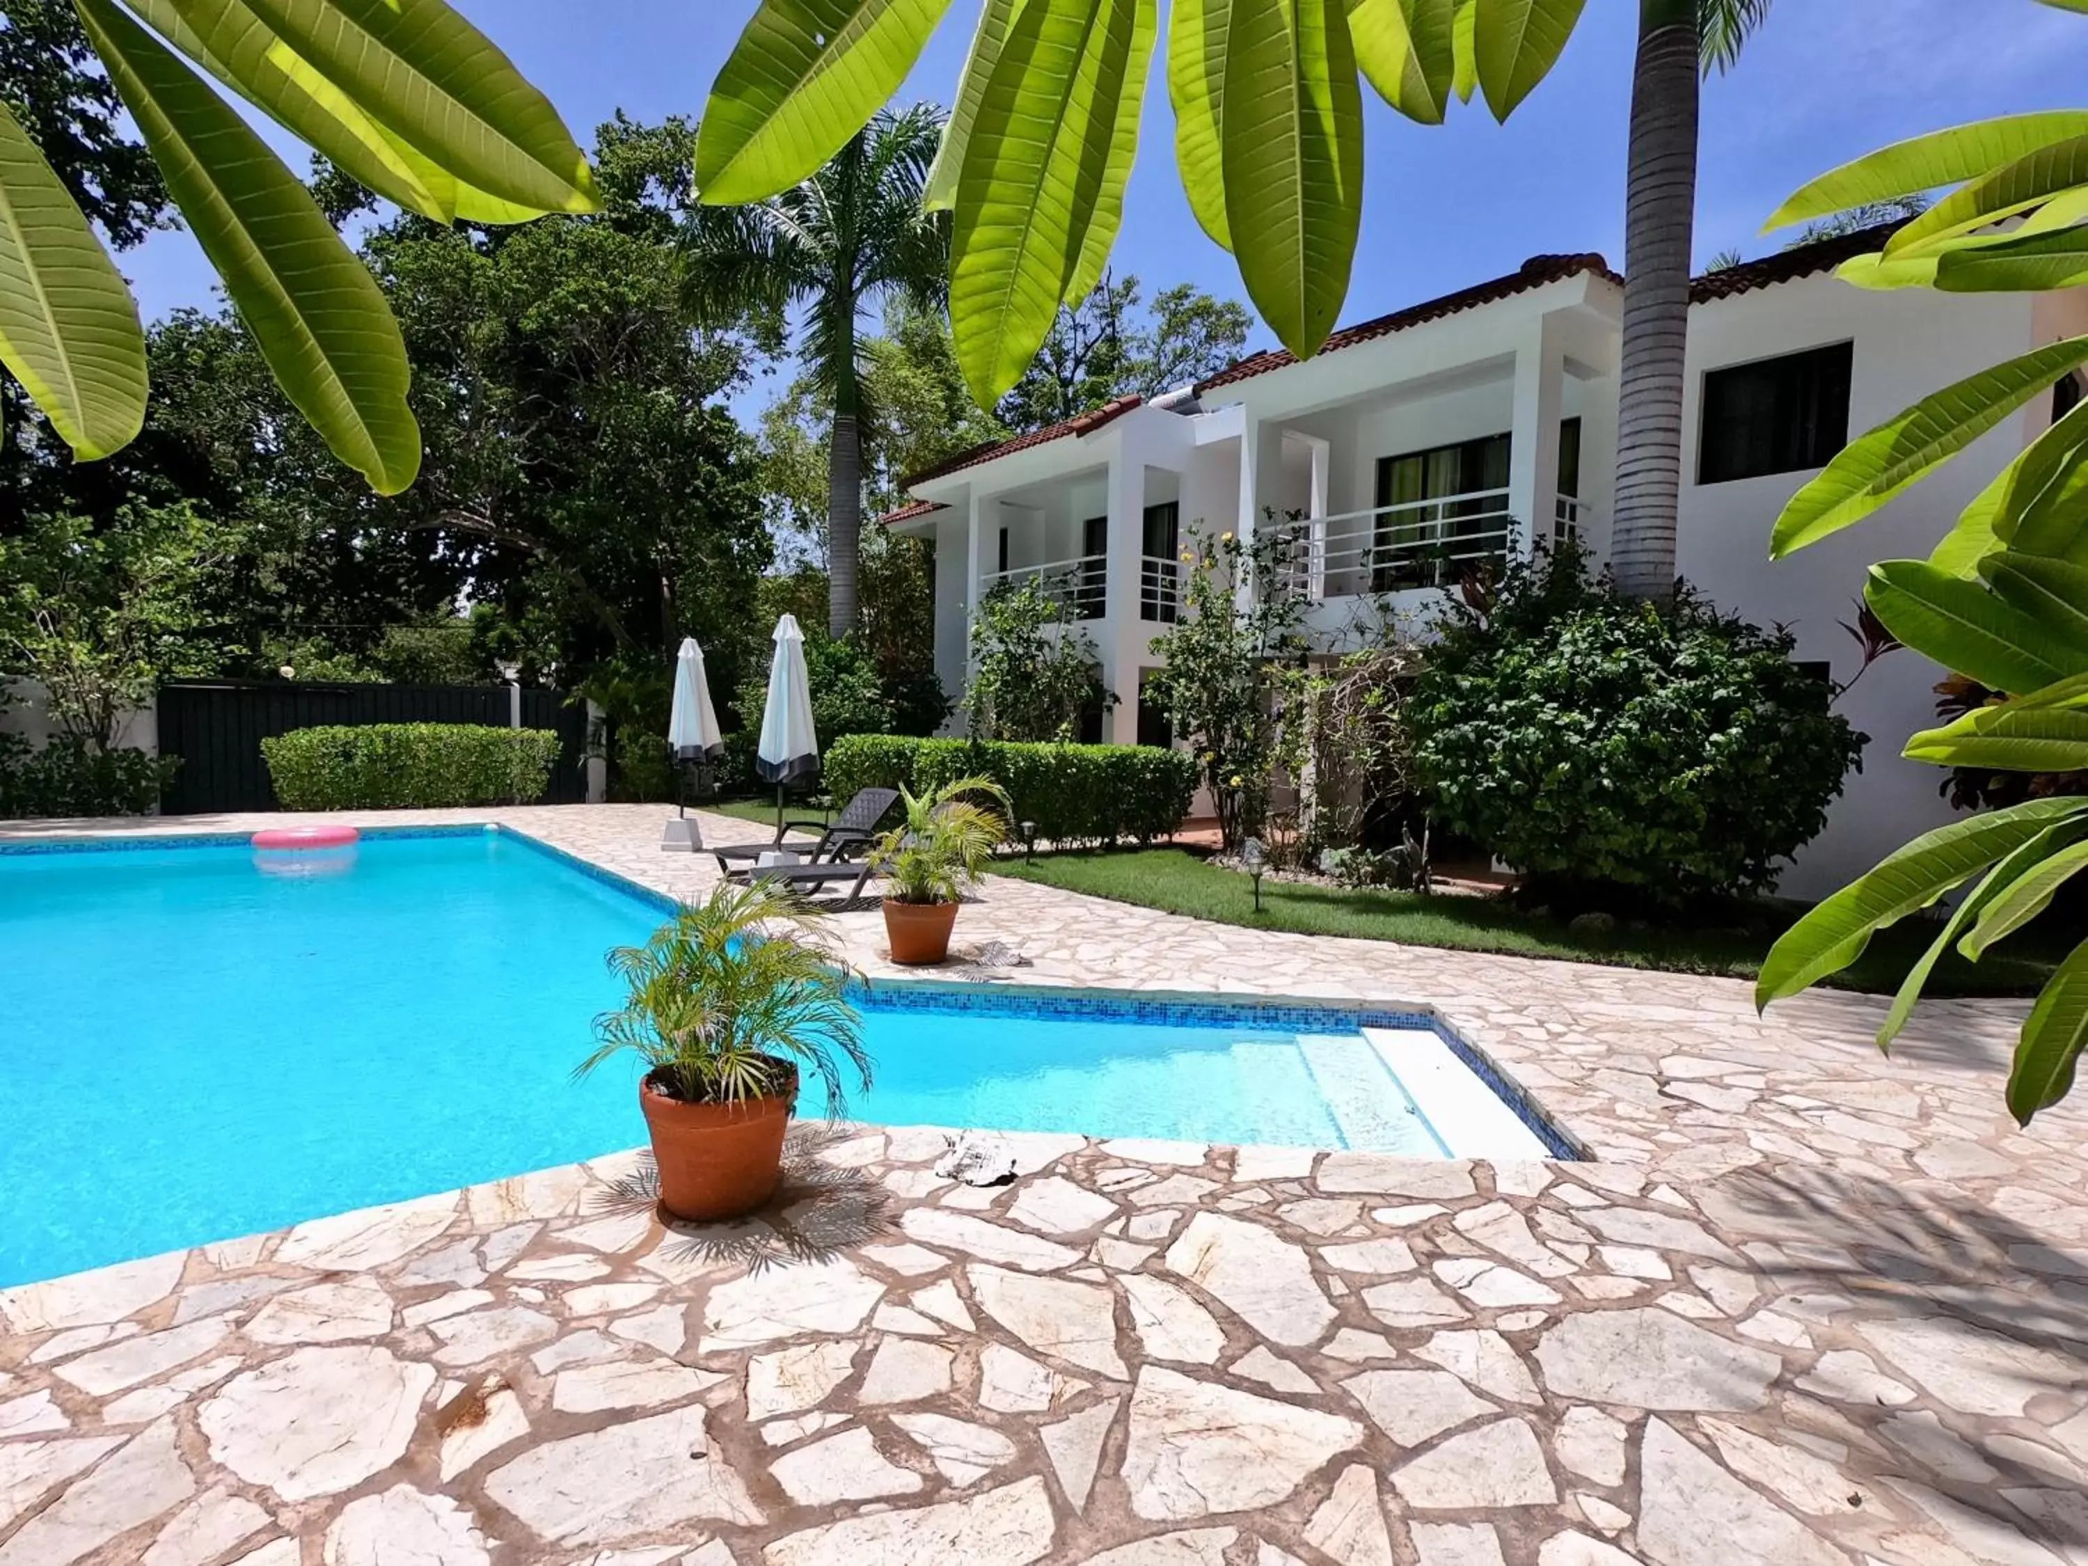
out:
<path id="1" fill-rule="evenodd" d="M 1735 906 L 1733 923 L 1721 929 L 1656 921 L 1645 929 L 1618 925 L 1606 938 L 1587 938 L 1568 931 L 1564 919 L 1533 919 L 1497 898 L 1351 892 L 1274 879 L 1261 883 L 1261 912 L 1257 915 L 1253 881 L 1247 875 L 1219 869 L 1184 848 L 1046 854 L 1027 864 L 1000 860 L 994 871 L 1067 892 L 1086 892 L 1094 898 L 1247 929 L 1361 935 L 1363 940 L 1407 946 L 1562 956 L 1576 963 L 1670 973 L 1723 973 L 1743 979 L 1756 975 L 1771 942 L 1802 912 L 1787 904 Z M 1919 921 L 1879 931 L 1862 958 L 1829 983 L 1892 992 L 1933 938 L 1933 925 Z M 1927 994 L 2036 994 L 2071 944 L 2063 935 L 2040 935 L 2034 925 L 2015 935 L 2009 946 L 1988 952 L 1979 963 L 1967 963 L 1952 952 L 1938 963 Z"/>

